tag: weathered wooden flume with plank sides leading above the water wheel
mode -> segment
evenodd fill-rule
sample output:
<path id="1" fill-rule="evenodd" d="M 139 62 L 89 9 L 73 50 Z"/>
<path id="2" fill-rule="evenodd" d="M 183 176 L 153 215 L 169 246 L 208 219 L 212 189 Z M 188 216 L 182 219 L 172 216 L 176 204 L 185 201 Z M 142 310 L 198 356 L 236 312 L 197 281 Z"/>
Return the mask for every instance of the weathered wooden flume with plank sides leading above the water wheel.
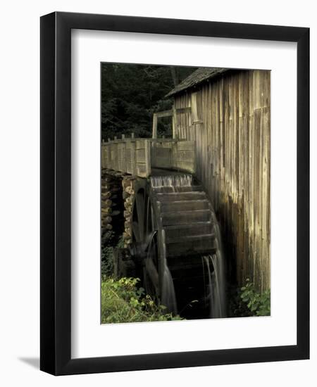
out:
<path id="1" fill-rule="evenodd" d="M 195 141 L 177 139 L 108 139 L 102 142 L 101 165 L 110 170 L 149 177 L 152 169 L 195 173 Z"/>

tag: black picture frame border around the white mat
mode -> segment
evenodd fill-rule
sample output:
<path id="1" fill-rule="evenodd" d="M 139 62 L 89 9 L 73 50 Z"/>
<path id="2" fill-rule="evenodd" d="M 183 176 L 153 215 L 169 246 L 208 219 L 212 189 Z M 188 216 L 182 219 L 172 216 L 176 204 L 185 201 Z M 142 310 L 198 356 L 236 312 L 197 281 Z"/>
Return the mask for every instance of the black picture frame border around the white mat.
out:
<path id="1" fill-rule="evenodd" d="M 297 345 L 71 359 L 72 29 L 297 42 Z M 54 12 L 41 18 L 40 369 L 54 375 L 309 359 L 309 28 Z"/>

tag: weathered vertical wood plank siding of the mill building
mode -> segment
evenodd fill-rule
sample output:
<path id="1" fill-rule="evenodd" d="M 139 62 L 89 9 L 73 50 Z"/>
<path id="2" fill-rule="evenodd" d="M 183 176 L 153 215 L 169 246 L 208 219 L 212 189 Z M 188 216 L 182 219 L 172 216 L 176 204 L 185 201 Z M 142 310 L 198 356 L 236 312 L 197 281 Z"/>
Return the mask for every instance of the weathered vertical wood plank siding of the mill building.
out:
<path id="1" fill-rule="evenodd" d="M 235 70 L 175 96 L 175 135 L 196 141 L 229 274 L 261 290 L 270 287 L 270 95 L 270 71 Z"/>

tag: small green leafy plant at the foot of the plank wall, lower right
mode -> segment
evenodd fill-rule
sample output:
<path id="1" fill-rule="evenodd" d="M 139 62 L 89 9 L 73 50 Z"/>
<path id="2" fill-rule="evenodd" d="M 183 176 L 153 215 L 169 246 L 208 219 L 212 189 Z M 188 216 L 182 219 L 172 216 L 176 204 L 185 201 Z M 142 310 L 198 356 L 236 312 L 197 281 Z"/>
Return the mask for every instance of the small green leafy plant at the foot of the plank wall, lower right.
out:
<path id="1" fill-rule="evenodd" d="M 240 298 L 247 304 L 251 315 L 253 316 L 270 316 L 271 315 L 271 291 L 259 293 L 256 291 L 254 284 L 247 279 L 246 286 L 241 288 Z"/>

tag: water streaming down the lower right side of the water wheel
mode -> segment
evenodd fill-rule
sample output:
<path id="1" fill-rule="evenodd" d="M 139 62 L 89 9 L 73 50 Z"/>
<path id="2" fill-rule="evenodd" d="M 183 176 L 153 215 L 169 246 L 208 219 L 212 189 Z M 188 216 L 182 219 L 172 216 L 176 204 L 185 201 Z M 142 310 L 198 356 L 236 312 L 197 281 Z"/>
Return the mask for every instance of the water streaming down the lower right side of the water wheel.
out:
<path id="1" fill-rule="evenodd" d="M 223 249 L 220 239 L 219 224 L 215 221 L 216 253 L 202 257 L 203 268 L 206 265 L 208 274 L 209 313 L 211 318 L 225 317 L 225 272 L 223 262 Z"/>

